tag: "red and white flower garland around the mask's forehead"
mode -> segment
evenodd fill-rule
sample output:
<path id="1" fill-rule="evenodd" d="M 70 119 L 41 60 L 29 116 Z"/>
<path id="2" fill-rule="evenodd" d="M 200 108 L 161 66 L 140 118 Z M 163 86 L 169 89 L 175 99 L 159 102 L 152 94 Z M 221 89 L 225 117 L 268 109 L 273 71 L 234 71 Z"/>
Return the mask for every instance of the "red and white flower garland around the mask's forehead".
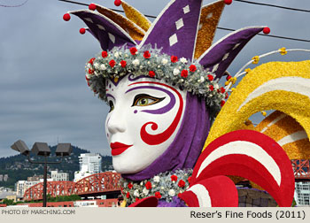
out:
<path id="1" fill-rule="evenodd" d="M 206 106 L 212 111 L 220 111 L 228 98 L 225 88 L 215 80 L 215 74 L 205 71 L 197 61 L 177 58 L 161 53 L 150 46 L 137 50 L 135 47 L 114 47 L 102 51 L 97 58 L 91 58 L 86 65 L 86 81 L 98 97 L 106 102 L 106 79 L 118 81 L 132 73 L 134 77 L 147 75 L 166 81 L 172 86 L 184 88 L 193 95 L 203 96 Z"/>

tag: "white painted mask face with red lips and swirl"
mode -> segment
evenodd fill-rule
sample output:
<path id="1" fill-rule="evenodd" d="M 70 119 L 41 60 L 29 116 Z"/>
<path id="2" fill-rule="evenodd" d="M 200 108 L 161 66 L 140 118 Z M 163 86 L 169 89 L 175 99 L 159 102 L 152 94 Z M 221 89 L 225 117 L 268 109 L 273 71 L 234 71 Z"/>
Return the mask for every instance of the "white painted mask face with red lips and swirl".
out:
<path id="1" fill-rule="evenodd" d="M 138 173 L 167 150 L 181 126 L 186 95 L 146 76 L 106 81 L 105 132 L 118 173 Z"/>

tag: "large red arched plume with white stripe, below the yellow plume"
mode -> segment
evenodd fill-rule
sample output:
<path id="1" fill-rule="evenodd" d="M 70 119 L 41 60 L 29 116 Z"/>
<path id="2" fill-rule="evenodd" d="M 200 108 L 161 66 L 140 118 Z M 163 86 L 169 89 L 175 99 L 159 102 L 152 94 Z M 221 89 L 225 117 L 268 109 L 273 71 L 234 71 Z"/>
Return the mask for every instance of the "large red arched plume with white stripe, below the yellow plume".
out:
<path id="1" fill-rule="evenodd" d="M 244 148 L 244 143 L 249 147 Z M 229 147 L 232 144 L 234 148 Z M 259 148 L 260 153 L 253 152 L 252 147 Z M 223 156 L 211 159 L 211 162 L 210 158 L 223 148 Z M 260 162 L 263 156 L 265 164 Z M 205 164 L 208 165 L 204 167 Z M 267 135 L 252 130 L 238 130 L 211 142 L 198 158 L 191 185 L 216 175 L 247 178 L 266 189 L 280 206 L 291 206 L 295 188 L 291 161 L 283 148 Z"/>

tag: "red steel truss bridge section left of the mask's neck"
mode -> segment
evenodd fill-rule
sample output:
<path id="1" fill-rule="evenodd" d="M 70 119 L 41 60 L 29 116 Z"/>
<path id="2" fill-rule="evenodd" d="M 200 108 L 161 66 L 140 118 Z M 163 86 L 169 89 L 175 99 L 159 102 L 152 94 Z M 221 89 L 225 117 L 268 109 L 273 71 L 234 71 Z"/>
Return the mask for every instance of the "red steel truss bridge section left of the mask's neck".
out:
<path id="1" fill-rule="evenodd" d="M 80 181 L 48 181 L 47 194 L 56 196 L 100 196 L 120 194 L 120 173 L 95 173 Z M 24 200 L 43 200 L 43 182 L 28 188 Z"/>

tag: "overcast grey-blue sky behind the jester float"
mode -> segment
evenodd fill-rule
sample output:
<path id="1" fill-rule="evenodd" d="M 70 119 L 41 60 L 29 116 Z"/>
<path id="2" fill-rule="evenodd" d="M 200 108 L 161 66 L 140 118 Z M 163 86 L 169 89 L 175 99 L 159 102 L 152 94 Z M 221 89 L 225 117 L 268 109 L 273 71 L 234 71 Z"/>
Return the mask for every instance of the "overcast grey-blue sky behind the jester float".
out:
<path id="1" fill-rule="evenodd" d="M 20 4 L 25 0 L 0 0 Z M 88 0 L 79 0 L 91 3 Z M 251 0 L 255 2 L 256 0 Z M 116 8 L 113 0 L 97 4 Z M 145 14 L 158 15 L 169 0 L 128 0 Z M 205 4 L 213 1 L 206 0 Z M 309 0 L 259 0 L 310 10 Z M 81 5 L 58 0 L 29 0 L 18 8 L 0 7 L 0 157 L 16 155 L 10 146 L 21 139 L 29 148 L 35 142 L 71 142 L 92 152 L 110 155 L 105 139 L 108 107 L 87 87 L 85 62 L 100 51 L 91 35 L 80 35 L 83 22 L 74 17 L 65 22 L 67 11 Z M 270 35 L 310 39 L 310 13 L 292 12 L 260 5 L 234 2 L 222 14 L 220 27 L 238 29 L 267 25 Z M 228 31 L 218 30 L 215 41 Z M 270 50 L 310 49 L 309 42 L 256 36 L 229 67 L 236 73 L 253 56 Z M 309 59 L 309 54 L 292 53 L 275 60 Z"/>

